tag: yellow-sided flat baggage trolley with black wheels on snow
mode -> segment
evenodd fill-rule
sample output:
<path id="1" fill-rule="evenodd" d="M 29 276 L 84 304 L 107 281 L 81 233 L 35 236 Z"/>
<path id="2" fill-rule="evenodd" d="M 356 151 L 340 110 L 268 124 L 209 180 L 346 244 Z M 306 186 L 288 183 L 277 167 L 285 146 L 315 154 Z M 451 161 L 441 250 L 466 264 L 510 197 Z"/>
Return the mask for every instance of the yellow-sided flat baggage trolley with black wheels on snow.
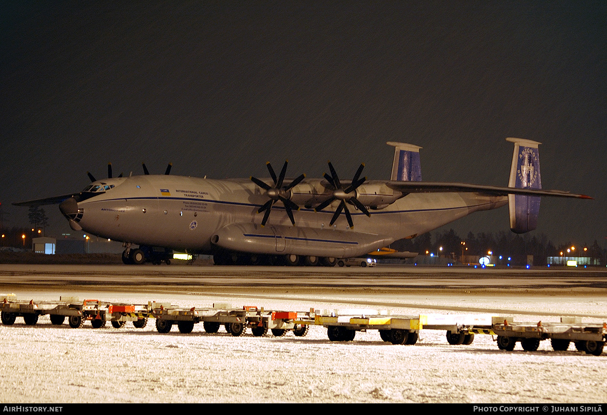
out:
<path id="1" fill-rule="evenodd" d="M 390 315 L 373 309 L 317 311 L 314 324 L 327 328 L 331 342 L 350 342 L 357 331 L 378 330 L 384 342 L 395 345 L 415 344 L 422 328 L 419 316 Z"/>

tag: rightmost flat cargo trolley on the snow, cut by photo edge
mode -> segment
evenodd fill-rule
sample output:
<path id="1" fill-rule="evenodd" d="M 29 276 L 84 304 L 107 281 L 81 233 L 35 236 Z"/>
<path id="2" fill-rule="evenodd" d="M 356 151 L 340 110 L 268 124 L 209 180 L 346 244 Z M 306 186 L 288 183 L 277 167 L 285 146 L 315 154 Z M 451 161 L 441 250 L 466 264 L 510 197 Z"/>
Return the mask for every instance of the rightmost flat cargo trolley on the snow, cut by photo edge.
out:
<path id="1" fill-rule="evenodd" d="M 578 351 L 599 356 L 607 339 L 607 323 L 582 323 L 580 317 L 561 317 L 560 323 L 514 323 L 493 325 L 498 348 L 512 351 L 517 342 L 526 351 L 538 349 L 541 340 L 551 340 L 552 349 L 566 351 L 573 342 Z"/>

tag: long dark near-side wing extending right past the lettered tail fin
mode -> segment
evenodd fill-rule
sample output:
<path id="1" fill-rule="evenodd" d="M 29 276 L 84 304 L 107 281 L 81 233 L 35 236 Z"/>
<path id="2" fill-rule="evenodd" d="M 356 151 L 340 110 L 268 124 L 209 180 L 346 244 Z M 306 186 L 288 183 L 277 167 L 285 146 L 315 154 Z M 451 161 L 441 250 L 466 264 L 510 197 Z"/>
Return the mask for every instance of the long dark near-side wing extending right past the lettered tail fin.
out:
<path id="1" fill-rule="evenodd" d="M 587 195 L 574 194 L 559 190 L 517 189 L 515 187 L 485 186 L 484 184 L 447 183 L 438 181 L 387 181 L 386 186 L 403 194 L 409 193 L 458 193 L 470 192 L 489 196 L 525 195 L 552 196 L 592 199 Z"/>

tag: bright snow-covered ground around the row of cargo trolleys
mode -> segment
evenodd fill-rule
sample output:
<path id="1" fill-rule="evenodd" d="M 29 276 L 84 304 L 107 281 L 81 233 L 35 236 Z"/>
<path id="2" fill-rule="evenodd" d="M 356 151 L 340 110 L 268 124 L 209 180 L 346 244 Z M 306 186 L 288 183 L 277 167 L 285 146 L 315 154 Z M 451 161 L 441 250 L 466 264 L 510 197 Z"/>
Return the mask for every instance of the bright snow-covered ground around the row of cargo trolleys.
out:
<path id="1" fill-rule="evenodd" d="M 19 299 L 58 299 L 58 292 L 21 292 Z M 86 292 L 74 293 L 81 299 Z M 307 311 L 360 307 L 342 303 L 345 295 L 326 300 L 257 299 L 198 294 L 98 293 L 107 301 L 208 307 L 232 306 Z M 331 299 L 339 298 L 338 302 Z M 352 298 L 352 300 L 358 300 Z M 382 299 L 390 303 L 391 299 Z M 589 297 L 516 297 L 466 299 L 472 308 L 520 309 L 516 321 L 557 321 L 532 315 L 554 309 L 555 315 L 596 315 L 603 322 L 607 303 Z M 450 295 L 409 298 L 410 306 L 387 307 L 406 315 L 438 312 L 432 306 L 461 306 Z M 384 307 L 385 308 L 385 307 Z M 508 313 L 509 315 L 511 313 Z M 35 326 L 18 318 L 0 325 L 0 401 L 70 402 L 464 402 L 464 403 L 601 403 L 607 397 L 607 351 L 592 356 L 555 352 L 541 342 L 537 352 L 501 351 L 491 336 L 476 335 L 469 346 L 452 346 L 444 331 L 423 330 L 411 346 L 384 343 L 377 331 L 357 332 L 353 342 L 330 342 L 327 330 L 312 326 L 307 337 L 233 337 L 220 329 L 206 334 L 202 324 L 191 334 L 174 327 L 159 334 L 151 320 L 144 329 L 131 323 L 122 329 L 93 329 L 90 323 L 71 329 Z"/>

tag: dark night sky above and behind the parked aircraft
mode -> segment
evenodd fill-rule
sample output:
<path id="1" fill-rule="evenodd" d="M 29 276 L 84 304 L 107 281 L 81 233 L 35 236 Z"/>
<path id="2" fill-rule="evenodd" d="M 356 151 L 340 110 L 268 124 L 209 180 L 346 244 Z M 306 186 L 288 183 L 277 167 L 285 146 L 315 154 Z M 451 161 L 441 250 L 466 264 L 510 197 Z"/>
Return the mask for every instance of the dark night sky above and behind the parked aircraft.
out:
<path id="1" fill-rule="evenodd" d="M 142 174 L 389 179 L 393 147 L 422 177 L 506 186 L 512 144 L 540 141 L 538 230 L 607 237 L 607 2 L 2 2 L 0 203 Z M 47 234 L 72 232 L 45 206 Z M 507 208 L 449 224 L 509 229 Z M 442 230 L 442 229 L 441 229 Z"/>

